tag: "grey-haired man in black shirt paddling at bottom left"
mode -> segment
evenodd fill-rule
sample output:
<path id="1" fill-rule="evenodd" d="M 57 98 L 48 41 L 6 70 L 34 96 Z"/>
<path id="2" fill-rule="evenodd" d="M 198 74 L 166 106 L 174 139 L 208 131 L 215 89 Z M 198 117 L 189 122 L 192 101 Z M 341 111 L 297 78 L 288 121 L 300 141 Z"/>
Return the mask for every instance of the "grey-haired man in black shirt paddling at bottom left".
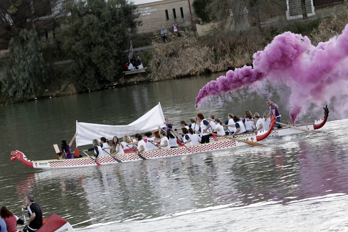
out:
<path id="1" fill-rule="evenodd" d="M 27 195 L 25 198 L 26 205 L 22 205 L 23 209 L 28 210 L 29 220 L 24 223 L 23 232 L 33 232 L 42 226 L 42 210 L 40 206 L 35 203 L 33 195 Z"/>

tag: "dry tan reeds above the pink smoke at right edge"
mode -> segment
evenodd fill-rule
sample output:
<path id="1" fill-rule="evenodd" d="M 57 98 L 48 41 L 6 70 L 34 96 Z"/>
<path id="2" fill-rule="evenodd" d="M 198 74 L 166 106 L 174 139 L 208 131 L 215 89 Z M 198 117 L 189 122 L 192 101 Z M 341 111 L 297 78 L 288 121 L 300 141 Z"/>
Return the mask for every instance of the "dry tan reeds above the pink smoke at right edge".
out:
<path id="1" fill-rule="evenodd" d="M 348 10 L 340 14 L 333 14 L 330 17 L 323 18 L 317 29 L 310 33 L 310 39 L 313 45 L 319 42 L 328 41 L 330 38 L 342 33 L 348 24 Z"/>

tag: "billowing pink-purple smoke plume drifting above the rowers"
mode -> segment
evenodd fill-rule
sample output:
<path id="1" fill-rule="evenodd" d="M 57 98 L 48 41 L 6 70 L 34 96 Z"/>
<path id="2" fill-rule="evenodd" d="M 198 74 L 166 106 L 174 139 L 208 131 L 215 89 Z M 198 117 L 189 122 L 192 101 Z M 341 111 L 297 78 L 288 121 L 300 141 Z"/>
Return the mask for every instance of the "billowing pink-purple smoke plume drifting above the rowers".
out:
<path id="1" fill-rule="evenodd" d="M 284 32 L 253 57 L 253 68 L 230 70 L 226 77 L 208 82 L 199 91 L 196 104 L 266 78 L 270 83 L 283 82 L 291 88 L 290 117 L 295 123 L 310 103 L 323 104 L 332 97 L 348 94 L 348 24 L 341 35 L 316 47 L 307 36 Z"/>

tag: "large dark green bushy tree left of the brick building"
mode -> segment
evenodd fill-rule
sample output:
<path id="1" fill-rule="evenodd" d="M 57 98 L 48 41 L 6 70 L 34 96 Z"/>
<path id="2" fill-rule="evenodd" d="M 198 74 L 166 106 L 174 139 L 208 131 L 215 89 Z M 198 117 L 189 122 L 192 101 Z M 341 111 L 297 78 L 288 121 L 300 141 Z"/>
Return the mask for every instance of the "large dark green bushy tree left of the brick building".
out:
<path id="1" fill-rule="evenodd" d="M 81 87 L 98 89 L 118 73 L 129 34 L 139 23 L 136 7 L 126 0 L 72 0 L 65 9 L 69 16 L 56 38 L 73 60 L 69 72 Z"/>

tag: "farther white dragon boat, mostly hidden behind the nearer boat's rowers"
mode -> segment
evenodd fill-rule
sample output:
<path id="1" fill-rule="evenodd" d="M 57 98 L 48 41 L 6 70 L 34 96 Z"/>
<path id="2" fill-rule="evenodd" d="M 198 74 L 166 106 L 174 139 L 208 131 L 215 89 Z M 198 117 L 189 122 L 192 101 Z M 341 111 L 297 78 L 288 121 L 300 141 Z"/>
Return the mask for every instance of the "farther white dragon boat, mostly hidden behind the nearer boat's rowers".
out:
<path id="1" fill-rule="evenodd" d="M 296 127 L 296 128 L 302 129 L 302 130 L 295 129 L 293 127 L 283 126 L 283 128 L 272 130 L 271 133 L 269 134 L 269 137 L 300 134 L 300 133 L 306 133 L 303 130 L 314 131 L 314 130 L 320 129 L 320 128 L 322 128 L 325 125 L 328 116 L 329 116 L 329 109 L 327 108 L 327 105 L 326 105 L 324 107 L 324 119 L 315 120 L 314 123 L 302 123 L 302 124 L 295 124 L 295 125 L 293 125 L 293 127 Z M 242 134 L 242 135 L 235 135 L 235 138 L 245 137 L 246 135 L 247 136 L 253 136 L 253 135 L 257 135 L 257 134 L 255 134 L 255 133 L 247 133 L 247 134 Z M 218 140 L 224 140 L 225 138 L 218 137 L 217 139 Z M 214 140 L 211 137 L 210 138 L 210 142 L 213 142 L 213 141 Z"/>

